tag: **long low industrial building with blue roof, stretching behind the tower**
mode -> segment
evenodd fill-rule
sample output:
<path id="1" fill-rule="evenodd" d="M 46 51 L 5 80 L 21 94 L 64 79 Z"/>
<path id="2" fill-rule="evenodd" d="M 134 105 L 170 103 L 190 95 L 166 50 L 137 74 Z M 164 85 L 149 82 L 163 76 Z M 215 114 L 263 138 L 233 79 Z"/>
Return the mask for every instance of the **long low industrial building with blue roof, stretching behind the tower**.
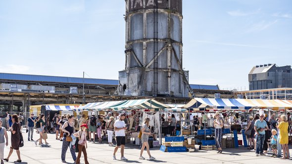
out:
<path id="1" fill-rule="evenodd" d="M 152 98 L 117 95 L 117 87 L 118 80 L 0 73 L 0 111 L 27 111 L 30 105 L 82 104 L 83 98 L 85 103 Z M 218 85 L 191 84 L 191 87 L 196 97 L 214 98 L 214 93 L 221 93 L 222 98 L 233 97 L 230 91 L 219 90 Z M 176 104 L 186 103 L 191 98 L 155 97 L 155 99 L 163 103 Z"/>

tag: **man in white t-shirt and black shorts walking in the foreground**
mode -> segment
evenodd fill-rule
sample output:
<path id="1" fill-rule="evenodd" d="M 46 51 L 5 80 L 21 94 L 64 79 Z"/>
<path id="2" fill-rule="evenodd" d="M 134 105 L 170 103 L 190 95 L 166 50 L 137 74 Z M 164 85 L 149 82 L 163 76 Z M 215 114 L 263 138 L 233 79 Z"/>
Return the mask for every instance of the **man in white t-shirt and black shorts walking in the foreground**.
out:
<path id="1" fill-rule="evenodd" d="M 116 142 L 117 142 L 117 145 L 114 149 L 113 156 L 112 156 L 114 160 L 116 160 L 116 152 L 118 151 L 120 146 L 121 146 L 121 160 L 124 160 L 124 161 L 128 160 L 124 157 L 124 148 L 126 144 L 125 129 L 127 129 L 127 126 L 124 122 L 125 118 L 126 118 L 126 115 L 121 114 L 120 118 L 116 120 L 116 122 L 114 123 L 114 130 L 115 130 Z"/>

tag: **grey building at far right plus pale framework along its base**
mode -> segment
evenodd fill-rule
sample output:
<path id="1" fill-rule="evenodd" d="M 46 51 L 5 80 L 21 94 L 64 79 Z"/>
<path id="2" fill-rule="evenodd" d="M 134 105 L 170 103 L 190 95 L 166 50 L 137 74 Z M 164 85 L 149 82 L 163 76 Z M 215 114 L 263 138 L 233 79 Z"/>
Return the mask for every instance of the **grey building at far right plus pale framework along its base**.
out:
<path id="1" fill-rule="evenodd" d="M 237 91 L 247 99 L 292 100 L 291 66 L 276 64 L 254 66 L 248 74 L 249 90 Z"/>

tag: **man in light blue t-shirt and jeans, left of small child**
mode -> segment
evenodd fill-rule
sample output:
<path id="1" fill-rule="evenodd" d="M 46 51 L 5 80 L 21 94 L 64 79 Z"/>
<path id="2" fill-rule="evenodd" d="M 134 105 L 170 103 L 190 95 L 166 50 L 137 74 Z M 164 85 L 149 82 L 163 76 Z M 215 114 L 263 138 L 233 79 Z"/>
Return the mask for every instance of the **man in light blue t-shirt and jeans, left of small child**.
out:
<path id="1" fill-rule="evenodd" d="M 268 125 L 266 121 L 264 121 L 263 114 L 260 115 L 259 120 L 254 123 L 254 130 L 257 133 L 255 156 L 265 156 L 265 154 L 263 154 L 263 146 L 265 141 L 265 130 L 268 130 Z"/>

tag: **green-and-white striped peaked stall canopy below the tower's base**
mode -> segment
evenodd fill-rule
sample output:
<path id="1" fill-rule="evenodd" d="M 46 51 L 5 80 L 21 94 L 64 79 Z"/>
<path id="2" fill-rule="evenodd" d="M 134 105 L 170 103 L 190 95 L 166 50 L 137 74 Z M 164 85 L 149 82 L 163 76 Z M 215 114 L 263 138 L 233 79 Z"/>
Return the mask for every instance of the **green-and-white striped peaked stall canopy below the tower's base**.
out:
<path id="1" fill-rule="evenodd" d="M 108 107 L 115 111 L 124 109 L 165 109 L 169 106 L 162 104 L 154 99 L 139 99 L 139 100 L 126 100 L 120 104 Z"/>

